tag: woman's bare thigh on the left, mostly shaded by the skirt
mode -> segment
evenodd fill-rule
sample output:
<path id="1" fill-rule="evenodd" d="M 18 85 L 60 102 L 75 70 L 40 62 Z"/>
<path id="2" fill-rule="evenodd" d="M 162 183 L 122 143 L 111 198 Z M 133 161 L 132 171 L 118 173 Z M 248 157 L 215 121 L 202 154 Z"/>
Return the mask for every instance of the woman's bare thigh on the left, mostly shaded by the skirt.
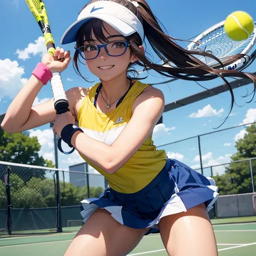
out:
<path id="1" fill-rule="evenodd" d="M 118 223 L 98 208 L 86 220 L 64 256 L 123 256 L 130 253 L 146 233 Z"/>

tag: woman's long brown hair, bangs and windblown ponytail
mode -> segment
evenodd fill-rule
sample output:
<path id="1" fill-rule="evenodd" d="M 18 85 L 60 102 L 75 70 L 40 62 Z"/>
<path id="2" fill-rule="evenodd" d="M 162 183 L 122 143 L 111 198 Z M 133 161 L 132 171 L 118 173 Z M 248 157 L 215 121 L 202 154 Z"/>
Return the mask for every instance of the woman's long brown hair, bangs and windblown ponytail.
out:
<path id="1" fill-rule="evenodd" d="M 87 3 L 84 8 L 94 2 L 98 2 L 102 0 L 91 0 Z M 106 0 L 104 0 L 106 1 Z M 154 52 L 157 56 L 163 60 L 164 63 L 171 63 L 170 65 L 160 65 L 156 63 L 152 63 L 149 59 L 146 58 L 145 53 L 142 52 L 138 46 L 142 45 L 142 39 L 138 35 L 138 33 L 134 33 L 133 35 L 126 37 L 127 42 L 130 42 L 130 50 L 139 60 L 136 64 L 140 66 L 144 66 L 145 68 L 151 68 L 161 75 L 165 77 L 171 78 L 179 78 L 185 80 L 192 80 L 192 81 L 206 81 L 212 80 L 214 78 L 220 77 L 224 80 L 225 84 L 228 86 L 228 89 L 231 93 L 231 109 L 234 104 L 234 95 L 232 91 L 232 87 L 228 83 L 225 77 L 239 77 L 239 78 L 250 78 L 254 83 L 254 93 L 255 94 L 255 87 L 256 87 L 256 77 L 250 73 L 239 72 L 236 70 L 224 70 L 224 66 L 235 62 L 235 60 L 240 59 L 244 55 L 233 55 L 230 57 L 225 57 L 225 60 L 221 62 L 218 58 L 213 56 L 211 53 L 207 53 L 204 51 L 191 51 L 182 48 L 180 45 L 176 43 L 176 41 L 182 41 L 180 39 L 174 39 L 169 35 L 164 33 L 163 29 L 161 29 L 157 18 L 154 16 L 153 12 L 151 11 L 149 5 L 146 3 L 145 0 L 135 0 L 133 2 L 138 3 L 138 7 L 136 7 L 130 0 L 107 0 L 116 2 L 125 6 L 127 9 L 133 12 L 140 22 L 143 24 L 145 37 L 147 41 L 151 45 Z M 83 8 L 83 9 L 84 9 Z M 82 9 L 82 10 L 83 10 Z M 82 11 L 81 10 L 81 11 Z M 86 29 L 85 29 L 86 28 Z M 76 48 L 83 45 L 83 38 L 85 36 L 86 40 L 91 39 L 92 31 L 96 36 L 99 42 L 106 42 L 107 39 L 103 35 L 103 22 L 99 19 L 92 19 L 91 21 L 85 23 L 79 29 L 77 33 L 77 44 Z M 195 55 L 210 57 L 215 59 L 218 63 L 214 66 L 208 66 L 207 64 L 201 62 Z M 76 68 L 78 75 L 82 76 L 79 69 L 78 69 L 78 52 L 75 52 L 73 58 L 73 65 Z M 129 65 L 129 68 L 132 65 Z M 128 70 L 134 72 L 134 70 Z M 83 76 L 82 76 L 83 77 Z M 84 77 L 83 77 L 84 78 Z M 84 78 L 85 79 L 85 78 Z M 226 120 L 226 118 L 225 118 Z M 225 121 L 224 121 L 225 122 Z"/>

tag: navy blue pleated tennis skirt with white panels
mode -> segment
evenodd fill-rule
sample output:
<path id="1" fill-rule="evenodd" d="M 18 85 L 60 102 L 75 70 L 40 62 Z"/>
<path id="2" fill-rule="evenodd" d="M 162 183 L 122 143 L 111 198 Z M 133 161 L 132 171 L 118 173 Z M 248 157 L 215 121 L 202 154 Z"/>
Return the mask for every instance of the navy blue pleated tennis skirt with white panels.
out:
<path id="1" fill-rule="evenodd" d="M 107 187 L 99 198 L 81 202 L 81 215 L 85 222 L 100 207 L 125 226 L 150 228 L 147 234 L 158 233 L 161 218 L 186 212 L 202 203 L 210 211 L 218 196 L 218 187 L 212 178 L 177 160 L 167 159 L 163 170 L 142 190 L 127 194 Z"/>

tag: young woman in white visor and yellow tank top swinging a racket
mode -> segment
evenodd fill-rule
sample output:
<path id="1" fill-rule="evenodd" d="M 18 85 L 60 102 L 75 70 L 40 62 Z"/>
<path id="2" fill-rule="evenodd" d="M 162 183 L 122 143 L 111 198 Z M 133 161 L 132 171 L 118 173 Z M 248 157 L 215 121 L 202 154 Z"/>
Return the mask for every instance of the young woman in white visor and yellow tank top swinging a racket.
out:
<path id="1" fill-rule="evenodd" d="M 170 66 L 145 57 L 145 37 Z M 64 33 L 62 44 L 72 42 L 76 42 L 73 62 L 78 74 L 78 63 L 86 63 L 100 83 L 68 90 L 70 112 L 56 116 L 53 100 L 32 106 L 51 72 L 62 72 L 70 63 L 70 52 L 57 48 L 55 57 L 43 56 L 2 123 L 4 130 L 19 132 L 54 120 L 53 131 L 109 182 L 99 199 L 82 201 L 85 223 L 65 256 L 126 255 L 153 232 L 160 232 L 169 255 L 216 256 L 207 211 L 218 197 L 218 188 L 211 178 L 156 149 L 152 130 L 163 114 L 163 93 L 131 79 L 129 70 L 139 64 L 187 80 L 237 76 L 255 83 L 255 77 L 221 70 L 221 63 L 214 69 L 201 63 L 193 54 L 214 56 L 176 44 L 160 28 L 145 0 L 90 1 Z"/>

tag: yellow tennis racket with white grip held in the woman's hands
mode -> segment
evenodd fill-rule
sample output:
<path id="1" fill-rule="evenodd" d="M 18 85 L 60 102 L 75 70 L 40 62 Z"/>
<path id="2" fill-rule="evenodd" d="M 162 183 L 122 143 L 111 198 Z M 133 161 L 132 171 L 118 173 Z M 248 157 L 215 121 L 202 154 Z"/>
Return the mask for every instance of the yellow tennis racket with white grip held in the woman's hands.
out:
<path id="1" fill-rule="evenodd" d="M 47 47 L 48 52 L 53 56 L 55 53 L 55 42 L 51 34 L 50 24 L 43 0 L 26 0 L 26 3 L 28 4 L 30 11 L 32 12 L 33 16 L 35 17 L 39 27 L 41 28 L 44 34 L 45 45 Z M 69 102 L 66 98 L 66 93 L 64 91 L 60 73 L 54 72 L 52 73 L 52 75 L 53 76 L 51 79 L 51 89 L 56 113 L 62 114 L 68 112 Z M 58 148 L 62 153 L 70 154 L 75 150 L 73 148 L 70 152 L 64 152 L 62 150 L 61 141 L 62 140 L 59 139 Z"/>

